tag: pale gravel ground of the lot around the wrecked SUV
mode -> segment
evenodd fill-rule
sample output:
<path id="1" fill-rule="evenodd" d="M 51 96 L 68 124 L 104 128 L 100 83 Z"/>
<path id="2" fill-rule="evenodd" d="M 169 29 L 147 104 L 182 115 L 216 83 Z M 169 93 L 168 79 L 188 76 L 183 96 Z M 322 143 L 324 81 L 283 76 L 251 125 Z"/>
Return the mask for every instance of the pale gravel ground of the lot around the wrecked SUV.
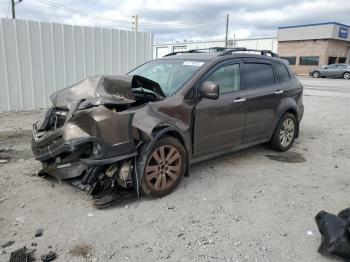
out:
<path id="1" fill-rule="evenodd" d="M 200 163 L 171 195 L 106 210 L 36 176 L 30 128 L 43 111 L 0 114 L 0 245 L 15 241 L 0 261 L 32 243 L 56 261 L 329 261 L 314 216 L 349 207 L 350 81 L 301 80 L 305 116 L 289 152 L 256 146 Z"/>

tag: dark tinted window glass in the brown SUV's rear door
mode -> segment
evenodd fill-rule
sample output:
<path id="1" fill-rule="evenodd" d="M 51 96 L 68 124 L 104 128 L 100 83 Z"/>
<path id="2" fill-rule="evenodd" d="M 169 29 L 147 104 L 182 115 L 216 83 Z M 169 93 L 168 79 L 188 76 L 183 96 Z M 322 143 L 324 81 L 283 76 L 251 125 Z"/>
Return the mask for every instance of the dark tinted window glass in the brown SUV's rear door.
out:
<path id="1" fill-rule="evenodd" d="M 245 63 L 244 80 L 248 89 L 275 84 L 273 70 L 269 64 Z"/>

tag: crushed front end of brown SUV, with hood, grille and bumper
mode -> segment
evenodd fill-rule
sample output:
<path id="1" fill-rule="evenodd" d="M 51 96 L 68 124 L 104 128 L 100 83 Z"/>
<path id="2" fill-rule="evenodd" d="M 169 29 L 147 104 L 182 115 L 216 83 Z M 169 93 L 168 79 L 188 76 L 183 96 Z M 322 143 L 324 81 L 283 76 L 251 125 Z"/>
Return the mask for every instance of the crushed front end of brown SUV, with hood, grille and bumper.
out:
<path id="1" fill-rule="evenodd" d="M 159 99 L 154 92 L 135 97 L 132 89 L 149 87 L 147 81 L 97 76 L 53 94 L 52 108 L 33 125 L 32 151 L 43 165 L 39 175 L 65 180 L 101 206 L 106 195 L 130 190 L 140 143 L 133 108 Z"/>

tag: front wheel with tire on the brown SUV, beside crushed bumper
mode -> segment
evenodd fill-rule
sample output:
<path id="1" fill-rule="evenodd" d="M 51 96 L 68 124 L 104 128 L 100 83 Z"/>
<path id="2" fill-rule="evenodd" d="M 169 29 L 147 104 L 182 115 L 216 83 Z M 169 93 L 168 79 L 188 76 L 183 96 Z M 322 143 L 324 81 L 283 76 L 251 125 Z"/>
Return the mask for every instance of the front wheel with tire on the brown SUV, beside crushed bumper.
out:
<path id="1" fill-rule="evenodd" d="M 186 165 L 182 144 L 170 136 L 160 138 L 147 156 L 141 179 L 142 191 L 149 197 L 170 194 L 180 183 Z"/>

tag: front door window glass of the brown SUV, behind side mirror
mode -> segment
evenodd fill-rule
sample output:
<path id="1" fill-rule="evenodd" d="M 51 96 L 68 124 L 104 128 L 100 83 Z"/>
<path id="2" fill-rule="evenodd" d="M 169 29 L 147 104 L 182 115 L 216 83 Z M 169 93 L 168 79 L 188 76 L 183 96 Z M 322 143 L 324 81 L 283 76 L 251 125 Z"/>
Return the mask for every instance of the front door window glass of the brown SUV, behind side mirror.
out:
<path id="1" fill-rule="evenodd" d="M 219 84 L 220 94 L 240 90 L 239 64 L 226 65 L 212 72 L 206 79 Z"/>

